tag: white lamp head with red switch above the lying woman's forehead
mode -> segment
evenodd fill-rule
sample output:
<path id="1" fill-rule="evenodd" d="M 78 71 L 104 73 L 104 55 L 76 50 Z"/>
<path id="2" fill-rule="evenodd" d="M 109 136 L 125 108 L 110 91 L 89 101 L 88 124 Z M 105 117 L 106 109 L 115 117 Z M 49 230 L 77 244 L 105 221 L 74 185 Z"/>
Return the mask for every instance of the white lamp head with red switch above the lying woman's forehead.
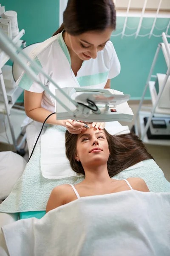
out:
<path id="1" fill-rule="evenodd" d="M 88 122 L 112 122 L 112 121 L 127 121 L 131 122 L 133 119 L 133 112 L 127 100 L 130 95 L 124 95 L 122 92 L 113 89 L 87 89 L 81 87 L 64 87 L 62 90 L 74 99 L 76 102 L 81 102 L 87 105 L 87 99 L 95 102 L 98 107 L 98 112 L 89 110 L 89 114 L 84 116 L 80 114 L 78 119 L 81 121 Z M 69 99 L 64 99 L 62 93 L 56 89 L 56 97 L 60 100 L 63 99 L 65 105 L 71 110 L 75 111 L 76 107 L 69 101 Z M 57 120 L 64 119 L 74 119 L 65 108 L 56 102 L 56 113 Z"/>

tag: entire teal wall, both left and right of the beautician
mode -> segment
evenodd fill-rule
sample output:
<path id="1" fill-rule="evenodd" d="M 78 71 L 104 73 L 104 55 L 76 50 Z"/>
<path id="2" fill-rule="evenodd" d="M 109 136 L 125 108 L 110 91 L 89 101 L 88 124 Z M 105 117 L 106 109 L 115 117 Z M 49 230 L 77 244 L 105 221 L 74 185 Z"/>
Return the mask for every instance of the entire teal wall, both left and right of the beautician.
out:
<path id="1" fill-rule="evenodd" d="M 25 29 L 26 34 L 23 39 L 27 45 L 44 41 L 51 37 L 59 26 L 59 0 L 1 0 L 1 4 L 5 5 L 5 9 L 14 10 L 18 14 L 19 29 Z M 117 17 L 117 29 L 113 35 L 122 31 L 124 17 Z M 158 18 L 154 34 L 160 35 L 165 31 L 169 19 Z M 126 29 L 125 34 L 133 34 L 139 23 L 139 18 L 128 18 L 127 26 L 133 29 Z M 144 18 L 140 34 L 145 35 L 150 32 L 153 24 L 153 18 Z M 148 29 L 147 29 L 148 28 Z M 169 29 L 170 34 L 170 29 Z M 150 66 L 156 52 L 161 37 L 138 37 L 134 36 L 121 39 L 120 36 L 111 37 L 111 41 L 116 49 L 117 55 L 121 63 L 121 73 L 111 81 L 111 87 L 129 93 L 131 99 L 140 99 L 144 89 Z M 162 52 L 159 55 L 154 73 L 165 73 L 167 66 L 165 64 Z M 150 99 L 147 92 L 146 99 Z"/>

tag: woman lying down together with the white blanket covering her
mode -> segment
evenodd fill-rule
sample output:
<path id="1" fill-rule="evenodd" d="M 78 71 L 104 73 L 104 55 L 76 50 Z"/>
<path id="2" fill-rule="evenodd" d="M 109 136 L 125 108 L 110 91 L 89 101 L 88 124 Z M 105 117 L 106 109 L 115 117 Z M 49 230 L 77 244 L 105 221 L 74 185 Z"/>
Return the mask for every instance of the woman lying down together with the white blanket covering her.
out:
<path id="1" fill-rule="evenodd" d="M 152 156 L 133 134 L 89 126 L 65 134 L 71 167 L 85 179 L 54 188 L 40 220 L 3 227 L 9 254 L 2 255 L 170 255 L 170 193 L 149 192 L 140 178 L 111 178 Z"/>

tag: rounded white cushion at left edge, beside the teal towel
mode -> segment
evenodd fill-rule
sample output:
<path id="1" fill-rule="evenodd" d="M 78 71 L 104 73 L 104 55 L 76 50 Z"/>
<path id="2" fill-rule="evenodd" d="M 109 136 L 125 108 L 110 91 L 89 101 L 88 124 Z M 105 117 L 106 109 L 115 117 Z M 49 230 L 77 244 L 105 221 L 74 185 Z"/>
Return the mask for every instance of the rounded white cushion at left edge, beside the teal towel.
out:
<path id="1" fill-rule="evenodd" d="M 0 152 L 0 200 L 11 193 L 25 167 L 26 160 L 20 155 L 11 151 Z"/>

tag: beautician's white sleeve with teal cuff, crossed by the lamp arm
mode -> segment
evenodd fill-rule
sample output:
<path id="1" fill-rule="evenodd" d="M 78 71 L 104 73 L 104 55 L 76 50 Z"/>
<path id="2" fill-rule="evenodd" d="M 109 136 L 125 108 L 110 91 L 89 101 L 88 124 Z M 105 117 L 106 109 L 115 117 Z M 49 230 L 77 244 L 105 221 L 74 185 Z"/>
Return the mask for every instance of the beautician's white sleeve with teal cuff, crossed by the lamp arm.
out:
<path id="1" fill-rule="evenodd" d="M 42 65 L 37 56 L 30 55 L 30 57 L 42 68 Z M 34 73 L 40 79 L 42 84 L 46 85 L 44 76 L 41 73 L 39 73 L 37 70 L 35 70 L 32 64 L 28 63 L 28 66 L 34 71 Z M 18 86 L 22 87 L 24 90 L 28 90 L 33 93 L 42 93 L 44 91 L 44 89 L 40 86 L 40 84 L 38 84 L 36 81 L 33 81 L 30 78 L 30 76 L 27 75 L 27 73 L 25 71 L 22 73 L 20 78 L 17 80 L 16 84 Z"/>

